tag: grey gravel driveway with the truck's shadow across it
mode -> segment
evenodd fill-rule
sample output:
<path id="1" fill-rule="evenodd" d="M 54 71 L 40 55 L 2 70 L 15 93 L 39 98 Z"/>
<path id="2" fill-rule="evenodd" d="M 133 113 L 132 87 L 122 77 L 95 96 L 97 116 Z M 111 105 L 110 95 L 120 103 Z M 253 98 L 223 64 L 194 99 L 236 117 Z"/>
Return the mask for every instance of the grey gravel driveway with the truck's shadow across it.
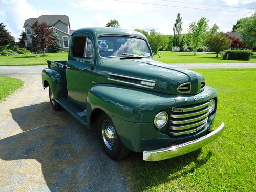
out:
<path id="1" fill-rule="evenodd" d="M 0 191 L 127 191 L 121 162 L 97 134 L 52 110 L 41 74 L 9 74 L 24 88 L 0 103 Z"/>

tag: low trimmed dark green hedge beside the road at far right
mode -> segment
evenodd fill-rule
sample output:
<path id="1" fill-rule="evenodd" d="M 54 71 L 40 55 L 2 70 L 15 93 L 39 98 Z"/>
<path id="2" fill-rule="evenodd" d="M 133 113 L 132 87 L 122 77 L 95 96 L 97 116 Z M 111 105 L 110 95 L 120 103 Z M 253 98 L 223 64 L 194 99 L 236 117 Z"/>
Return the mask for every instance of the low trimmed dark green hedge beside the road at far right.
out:
<path id="1" fill-rule="evenodd" d="M 222 55 L 225 60 L 249 60 L 253 55 L 251 50 L 227 50 Z"/>

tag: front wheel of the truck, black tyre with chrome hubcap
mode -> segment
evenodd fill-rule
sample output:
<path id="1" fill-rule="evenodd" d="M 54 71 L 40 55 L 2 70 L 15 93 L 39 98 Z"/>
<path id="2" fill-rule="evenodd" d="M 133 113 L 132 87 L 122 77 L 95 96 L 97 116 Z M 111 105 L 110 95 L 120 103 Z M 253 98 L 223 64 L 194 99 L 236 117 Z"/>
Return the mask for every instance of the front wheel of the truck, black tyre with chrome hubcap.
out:
<path id="1" fill-rule="evenodd" d="M 99 139 L 106 155 L 112 160 L 119 161 L 129 154 L 129 150 L 122 144 L 115 126 L 108 115 L 99 118 Z"/>

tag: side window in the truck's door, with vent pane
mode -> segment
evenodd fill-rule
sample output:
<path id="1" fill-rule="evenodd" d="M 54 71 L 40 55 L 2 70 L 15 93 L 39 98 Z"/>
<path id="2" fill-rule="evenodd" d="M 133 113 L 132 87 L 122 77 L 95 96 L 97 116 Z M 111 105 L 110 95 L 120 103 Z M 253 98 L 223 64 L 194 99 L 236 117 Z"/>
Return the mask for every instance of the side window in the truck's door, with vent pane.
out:
<path id="1" fill-rule="evenodd" d="M 93 44 L 88 37 L 75 37 L 72 46 L 73 57 L 92 58 Z"/>

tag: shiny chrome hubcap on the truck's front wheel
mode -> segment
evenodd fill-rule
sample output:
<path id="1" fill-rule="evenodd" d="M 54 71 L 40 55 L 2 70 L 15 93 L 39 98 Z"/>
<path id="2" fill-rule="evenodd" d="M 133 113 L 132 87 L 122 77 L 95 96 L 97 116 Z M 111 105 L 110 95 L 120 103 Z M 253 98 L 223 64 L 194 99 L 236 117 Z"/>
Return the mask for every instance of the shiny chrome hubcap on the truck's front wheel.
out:
<path id="1" fill-rule="evenodd" d="M 105 120 L 101 127 L 103 141 L 106 147 L 113 151 L 116 147 L 116 130 L 112 122 Z"/>

